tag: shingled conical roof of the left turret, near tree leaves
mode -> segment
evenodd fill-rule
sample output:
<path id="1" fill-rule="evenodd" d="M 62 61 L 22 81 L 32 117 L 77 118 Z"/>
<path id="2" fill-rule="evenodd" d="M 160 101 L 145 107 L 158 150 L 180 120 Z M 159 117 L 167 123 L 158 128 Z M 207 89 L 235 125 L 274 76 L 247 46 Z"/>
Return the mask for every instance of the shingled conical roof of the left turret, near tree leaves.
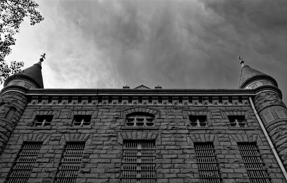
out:
<path id="1" fill-rule="evenodd" d="M 31 67 L 28 67 L 27 69 L 24 69 L 10 77 L 8 77 L 8 79 L 6 79 L 4 86 L 6 86 L 11 80 L 15 79 L 15 77 L 17 78 L 27 78 L 29 80 L 32 80 L 35 82 L 35 84 L 38 85 L 38 88 L 44 88 L 44 84 L 43 84 L 43 78 L 42 78 L 42 66 L 41 66 L 41 61 L 34 64 Z"/>

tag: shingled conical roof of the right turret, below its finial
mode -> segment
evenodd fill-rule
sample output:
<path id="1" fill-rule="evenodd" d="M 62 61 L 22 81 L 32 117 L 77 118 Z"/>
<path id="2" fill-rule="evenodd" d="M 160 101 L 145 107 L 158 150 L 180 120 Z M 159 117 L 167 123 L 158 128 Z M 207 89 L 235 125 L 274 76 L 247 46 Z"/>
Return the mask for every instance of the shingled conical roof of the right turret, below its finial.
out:
<path id="1" fill-rule="evenodd" d="M 254 79 L 259 79 L 259 78 L 269 79 L 275 84 L 276 87 L 278 87 L 278 84 L 273 77 L 271 77 L 267 74 L 264 74 L 260 71 L 257 71 L 256 69 L 253 69 L 253 68 L 249 67 L 248 65 L 243 65 L 243 67 L 241 68 L 239 88 L 245 88 L 246 84 L 248 84 L 249 82 L 251 82 Z"/>

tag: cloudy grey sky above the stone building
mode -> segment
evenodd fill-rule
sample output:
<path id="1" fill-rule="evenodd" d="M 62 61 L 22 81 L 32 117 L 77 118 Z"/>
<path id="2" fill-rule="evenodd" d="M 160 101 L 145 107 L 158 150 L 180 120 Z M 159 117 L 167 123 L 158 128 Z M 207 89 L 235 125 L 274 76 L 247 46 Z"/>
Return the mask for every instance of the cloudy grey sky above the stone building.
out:
<path id="1" fill-rule="evenodd" d="M 241 56 L 287 102 L 287 1 L 36 3 L 44 21 L 25 20 L 6 59 L 46 53 L 45 88 L 238 88 Z"/>

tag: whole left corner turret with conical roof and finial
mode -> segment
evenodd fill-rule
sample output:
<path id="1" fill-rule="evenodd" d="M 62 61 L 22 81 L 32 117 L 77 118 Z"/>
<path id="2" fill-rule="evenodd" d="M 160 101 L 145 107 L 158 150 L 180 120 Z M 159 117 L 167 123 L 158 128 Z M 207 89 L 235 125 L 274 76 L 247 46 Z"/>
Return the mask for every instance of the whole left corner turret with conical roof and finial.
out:
<path id="1" fill-rule="evenodd" d="M 44 88 L 41 62 L 45 54 L 41 56 L 40 61 L 32 67 L 8 77 L 0 92 L 0 154 L 28 104 L 26 91 Z"/>

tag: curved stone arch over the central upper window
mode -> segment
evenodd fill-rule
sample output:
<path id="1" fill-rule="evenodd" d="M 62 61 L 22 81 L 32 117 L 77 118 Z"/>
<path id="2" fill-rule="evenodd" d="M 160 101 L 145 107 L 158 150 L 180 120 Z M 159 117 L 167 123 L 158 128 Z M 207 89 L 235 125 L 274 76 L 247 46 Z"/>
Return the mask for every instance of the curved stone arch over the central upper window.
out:
<path id="1" fill-rule="evenodd" d="M 146 114 L 149 116 L 154 116 L 154 118 L 160 118 L 160 113 L 157 110 L 151 108 L 135 107 L 123 110 L 121 112 L 121 118 L 127 118 L 128 115 L 133 114 Z"/>

